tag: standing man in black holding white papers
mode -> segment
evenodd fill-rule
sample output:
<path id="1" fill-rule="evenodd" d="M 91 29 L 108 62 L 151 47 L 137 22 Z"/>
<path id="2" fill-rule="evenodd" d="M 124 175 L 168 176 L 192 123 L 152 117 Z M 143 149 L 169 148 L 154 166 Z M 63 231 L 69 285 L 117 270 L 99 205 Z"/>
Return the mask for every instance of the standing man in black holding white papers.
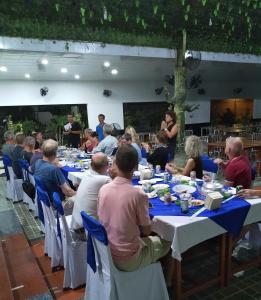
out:
<path id="1" fill-rule="evenodd" d="M 80 146 L 80 134 L 81 134 L 81 125 L 74 120 L 72 114 L 68 114 L 68 123 L 64 125 L 63 134 L 67 136 L 67 144 L 73 148 L 78 148 Z"/>

